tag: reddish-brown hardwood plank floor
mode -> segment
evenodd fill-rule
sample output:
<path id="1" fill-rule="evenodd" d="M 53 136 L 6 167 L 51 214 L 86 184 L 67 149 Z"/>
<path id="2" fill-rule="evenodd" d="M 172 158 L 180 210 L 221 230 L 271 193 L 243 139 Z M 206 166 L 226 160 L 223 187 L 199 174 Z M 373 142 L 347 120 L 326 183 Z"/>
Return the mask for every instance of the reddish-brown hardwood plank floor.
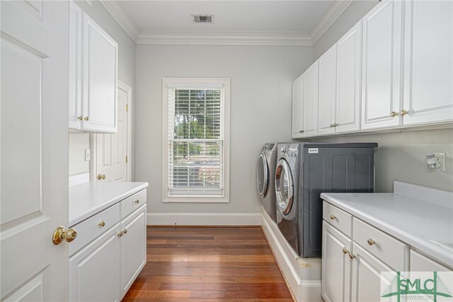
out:
<path id="1" fill-rule="evenodd" d="M 149 227 L 132 301 L 287 301 L 291 293 L 260 227 Z"/>

